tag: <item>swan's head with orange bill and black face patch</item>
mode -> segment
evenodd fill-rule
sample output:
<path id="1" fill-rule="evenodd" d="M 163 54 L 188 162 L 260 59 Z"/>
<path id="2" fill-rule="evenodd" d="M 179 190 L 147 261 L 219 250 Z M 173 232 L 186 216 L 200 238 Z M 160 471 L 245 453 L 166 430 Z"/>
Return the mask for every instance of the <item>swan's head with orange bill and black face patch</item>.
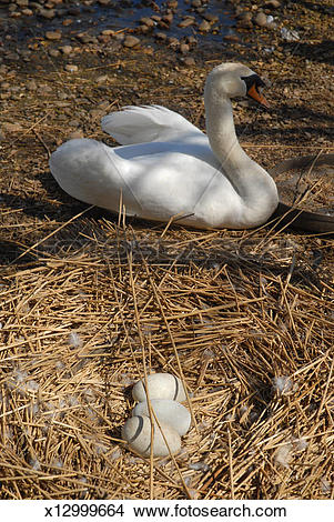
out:
<path id="1" fill-rule="evenodd" d="M 211 99 L 249 97 L 262 106 L 270 107 L 261 93 L 264 81 L 249 67 L 241 63 L 222 63 L 206 78 L 205 91 Z"/>

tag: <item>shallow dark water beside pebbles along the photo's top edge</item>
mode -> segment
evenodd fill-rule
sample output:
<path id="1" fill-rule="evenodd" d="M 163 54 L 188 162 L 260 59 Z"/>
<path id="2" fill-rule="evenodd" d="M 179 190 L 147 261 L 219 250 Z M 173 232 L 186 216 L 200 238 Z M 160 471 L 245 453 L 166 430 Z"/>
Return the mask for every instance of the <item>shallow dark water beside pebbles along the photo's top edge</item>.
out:
<path id="1" fill-rule="evenodd" d="M 161 11 L 154 11 L 152 7 L 148 7 L 139 0 L 129 2 L 111 2 L 109 6 L 102 7 L 99 3 L 92 6 L 83 6 L 81 2 L 69 2 L 60 4 L 63 11 L 53 19 L 44 19 L 38 14 L 20 18 L 8 18 L 6 7 L 0 10 L 0 19 L 2 19 L 2 28 L 4 32 L 10 33 L 11 38 L 18 42 L 29 40 L 31 37 L 42 37 L 45 31 L 61 29 L 63 39 L 73 38 L 80 32 L 88 32 L 91 36 L 99 34 L 104 29 L 122 30 L 129 28 L 133 30 L 138 28 L 139 20 L 142 17 L 151 17 L 152 14 L 164 13 L 166 2 L 156 0 L 155 3 L 161 8 Z M 201 23 L 203 18 L 185 1 L 179 0 L 174 19 L 169 29 L 161 29 L 156 27 L 156 31 L 165 32 L 169 37 L 182 37 L 195 34 L 199 43 L 221 43 L 225 34 L 233 33 L 232 26 L 234 24 L 233 11 L 225 4 L 224 1 L 211 0 L 203 6 L 205 12 L 217 17 L 217 21 L 212 23 L 211 31 L 208 33 L 200 33 L 196 27 L 179 28 L 178 24 L 185 16 L 192 16 L 198 23 Z M 72 19 L 72 23 L 68 27 L 63 26 L 64 19 Z M 0 26 L 1 27 L 1 26 Z M 148 37 L 150 38 L 150 32 Z M 144 38 L 144 37 L 143 37 Z"/>

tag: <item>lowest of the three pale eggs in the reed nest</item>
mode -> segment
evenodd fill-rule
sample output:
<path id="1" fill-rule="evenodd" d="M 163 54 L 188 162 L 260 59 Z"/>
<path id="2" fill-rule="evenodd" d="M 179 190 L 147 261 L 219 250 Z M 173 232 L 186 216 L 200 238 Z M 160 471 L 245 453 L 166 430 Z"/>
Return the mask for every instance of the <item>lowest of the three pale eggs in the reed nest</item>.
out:
<path id="1" fill-rule="evenodd" d="M 171 453 L 178 453 L 181 449 L 181 438 L 173 428 L 160 423 L 161 430 L 168 441 Z M 151 454 L 151 420 L 149 416 L 131 416 L 128 419 L 122 429 L 122 439 L 124 439 L 130 448 L 143 456 Z M 153 435 L 153 456 L 169 455 L 169 449 L 164 442 L 158 425 L 154 425 Z"/>

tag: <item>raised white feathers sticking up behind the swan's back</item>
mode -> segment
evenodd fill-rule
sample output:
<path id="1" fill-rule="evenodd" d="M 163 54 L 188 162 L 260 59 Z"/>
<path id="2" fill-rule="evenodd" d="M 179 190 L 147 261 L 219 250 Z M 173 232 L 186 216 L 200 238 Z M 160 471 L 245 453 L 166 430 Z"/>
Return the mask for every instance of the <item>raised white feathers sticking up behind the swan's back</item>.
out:
<path id="1" fill-rule="evenodd" d="M 121 145 L 175 141 L 182 134 L 201 132 L 181 114 L 161 106 L 124 107 L 102 118 L 102 129 Z"/>

